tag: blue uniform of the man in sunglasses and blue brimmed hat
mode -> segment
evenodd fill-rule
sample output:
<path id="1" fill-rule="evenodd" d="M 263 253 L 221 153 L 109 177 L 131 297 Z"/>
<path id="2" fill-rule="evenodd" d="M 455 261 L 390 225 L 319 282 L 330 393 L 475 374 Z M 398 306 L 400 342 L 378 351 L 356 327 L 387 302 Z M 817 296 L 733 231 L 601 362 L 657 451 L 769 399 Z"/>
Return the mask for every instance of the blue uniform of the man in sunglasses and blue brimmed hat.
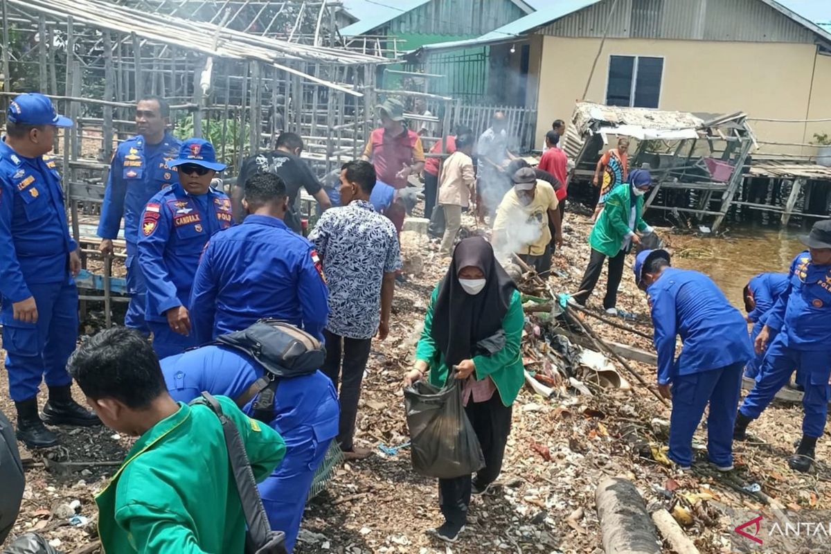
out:
<path id="1" fill-rule="evenodd" d="M 165 311 L 189 307 L 199 256 L 208 239 L 232 224 L 231 200 L 216 189 L 188 194 L 178 182 L 147 203 L 139 233 L 139 263 L 147 277 L 145 317 L 160 358 L 195 346 L 194 333 L 170 329 Z"/>

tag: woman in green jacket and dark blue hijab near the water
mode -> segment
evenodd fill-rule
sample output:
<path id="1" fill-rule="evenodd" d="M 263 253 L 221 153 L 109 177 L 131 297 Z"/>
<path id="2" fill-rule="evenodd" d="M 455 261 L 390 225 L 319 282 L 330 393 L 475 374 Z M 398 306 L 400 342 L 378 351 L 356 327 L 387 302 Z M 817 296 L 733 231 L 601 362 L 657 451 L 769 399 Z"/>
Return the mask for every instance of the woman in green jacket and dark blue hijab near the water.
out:
<path id="1" fill-rule="evenodd" d="M 606 282 L 606 297 L 603 309 L 608 314 L 617 314 L 617 287 L 623 277 L 623 261 L 633 244 L 641 243 L 636 231 L 652 233 L 652 227 L 641 218 L 643 195 L 652 184 L 652 175 L 646 169 L 635 169 L 629 174 L 628 186 L 612 189 L 606 199 L 606 207 L 594 223 L 588 243 L 592 247 L 592 257 L 583 274 L 578 293 L 574 300 L 585 306 L 592 294 L 597 279 L 603 270 L 603 262 L 609 258 L 609 274 Z"/>

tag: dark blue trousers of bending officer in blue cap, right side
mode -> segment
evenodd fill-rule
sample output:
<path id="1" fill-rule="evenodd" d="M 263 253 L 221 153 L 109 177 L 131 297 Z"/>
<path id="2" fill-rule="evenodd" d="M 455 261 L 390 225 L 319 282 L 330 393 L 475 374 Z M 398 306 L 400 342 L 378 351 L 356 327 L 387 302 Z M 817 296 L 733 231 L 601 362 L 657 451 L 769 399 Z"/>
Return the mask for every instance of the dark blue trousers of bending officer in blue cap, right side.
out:
<path id="1" fill-rule="evenodd" d="M 735 407 L 741 394 L 745 364 L 733 364 L 672 380 L 669 458 L 681 466 L 692 463 L 692 435 L 704 409 L 707 416 L 707 454 L 712 463 L 728 467 L 733 463 Z"/>

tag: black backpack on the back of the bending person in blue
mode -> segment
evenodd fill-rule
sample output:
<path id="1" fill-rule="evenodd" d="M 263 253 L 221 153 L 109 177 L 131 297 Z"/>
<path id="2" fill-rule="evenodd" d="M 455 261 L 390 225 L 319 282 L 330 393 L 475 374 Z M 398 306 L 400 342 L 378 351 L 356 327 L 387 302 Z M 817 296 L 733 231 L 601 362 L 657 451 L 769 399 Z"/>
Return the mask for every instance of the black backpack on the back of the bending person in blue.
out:
<path id="1" fill-rule="evenodd" d="M 213 344 L 241 351 L 263 366 L 263 376 L 234 402 L 242 408 L 256 397 L 253 417 L 266 424 L 274 419 L 274 394 L 279 380 L 311 375 L 326 359 L 326 348 L 317 338 L 277 319 L 261 319 L 243 331 L 220 335 Z"/>

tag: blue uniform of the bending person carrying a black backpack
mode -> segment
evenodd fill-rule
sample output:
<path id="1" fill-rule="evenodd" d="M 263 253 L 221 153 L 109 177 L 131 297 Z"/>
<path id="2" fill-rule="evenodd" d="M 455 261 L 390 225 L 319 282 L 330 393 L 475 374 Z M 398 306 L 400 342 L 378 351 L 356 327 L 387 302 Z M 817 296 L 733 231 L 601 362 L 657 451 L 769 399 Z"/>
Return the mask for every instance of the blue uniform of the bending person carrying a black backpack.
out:
<path id="1" fill-rule="evenodd" d="M 207 390 L 237 398 L 263 375 L 263 367 L 239 351 L 203 346 L 161 360 L 170 395 L 188 402 Z M 252 402 L 243 412 L 253 414 Z M 286 457 L 259 485 L 268 521 L 286 533 L 292 552 L 314 473 L 337 435 L 340 409 L 332 381 L 320 371 L 279 381 L 270 423 L 286 441 Z"/>

